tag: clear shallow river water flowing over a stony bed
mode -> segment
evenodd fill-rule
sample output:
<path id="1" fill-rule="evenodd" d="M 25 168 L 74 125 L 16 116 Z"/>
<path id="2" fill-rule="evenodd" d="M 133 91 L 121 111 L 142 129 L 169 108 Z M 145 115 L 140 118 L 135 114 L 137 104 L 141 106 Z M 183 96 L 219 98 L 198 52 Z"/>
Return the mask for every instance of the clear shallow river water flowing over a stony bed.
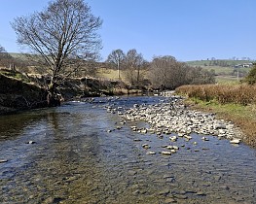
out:
<path id="1" fill-rule="evenodd" d="M 105 109 L 161 99 L 97 98 L 0 117 L 0 203 L 256 203 L 255 149 L 196 134 L 172 143 Z M 180 150 L 161 154 L 170 144 Z"/>

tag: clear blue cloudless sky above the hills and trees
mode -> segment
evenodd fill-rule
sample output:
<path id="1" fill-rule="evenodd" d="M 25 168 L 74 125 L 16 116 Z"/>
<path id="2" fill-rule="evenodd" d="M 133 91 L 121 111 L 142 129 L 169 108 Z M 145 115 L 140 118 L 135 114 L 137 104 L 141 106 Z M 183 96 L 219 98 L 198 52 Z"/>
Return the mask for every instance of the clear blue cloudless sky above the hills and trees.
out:
<path id="1" fill-rule="evenodd" d="M 42 11 L 49 0 L 0 0 L 0 45 L 21 52 L 10 22 Z M 256 0 L 85 0 L 101 17 L 103 49 L 135 49 L 146 60 L 256 59 Z"/>

